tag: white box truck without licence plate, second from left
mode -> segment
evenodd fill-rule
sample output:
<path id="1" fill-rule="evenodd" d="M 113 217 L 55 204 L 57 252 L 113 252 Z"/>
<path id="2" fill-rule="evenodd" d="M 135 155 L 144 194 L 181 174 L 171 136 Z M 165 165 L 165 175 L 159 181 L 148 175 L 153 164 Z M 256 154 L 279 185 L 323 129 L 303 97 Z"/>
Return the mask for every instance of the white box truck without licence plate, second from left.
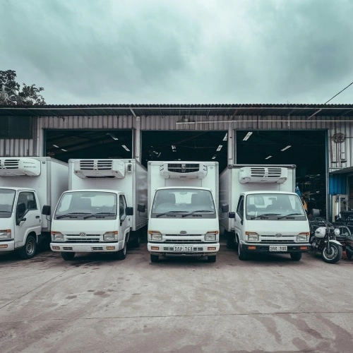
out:
<path id="1" fill-rule="evenodd" d="M 136 213 L 138 202 L 147 201 L 147 170 L 127 159 L 75 159 L 68 166 L 68 191 L 52 222 L 52 251 L 64 260 L 92 252 L 116 253 L 123 260 L 128 241 L 139 246 L 147 225 L 147 216 Z"/>

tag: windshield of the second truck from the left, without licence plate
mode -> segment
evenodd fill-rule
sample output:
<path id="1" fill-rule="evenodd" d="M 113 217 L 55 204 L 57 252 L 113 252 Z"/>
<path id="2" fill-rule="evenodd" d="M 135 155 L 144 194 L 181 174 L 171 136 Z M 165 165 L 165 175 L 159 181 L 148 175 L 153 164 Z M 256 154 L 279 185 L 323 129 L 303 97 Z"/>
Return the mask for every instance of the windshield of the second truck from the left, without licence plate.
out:
<path id="1" fill-rule="evenodd" d="M 72 191 L 64 193 L 56 207 L 54 218 L 60 220 L 116 218 L 116 194 L 104 191 Z M 88 217 L 89 216 L 89 217 Z M 90 217 L 92 216 L 92 217 Z"/>

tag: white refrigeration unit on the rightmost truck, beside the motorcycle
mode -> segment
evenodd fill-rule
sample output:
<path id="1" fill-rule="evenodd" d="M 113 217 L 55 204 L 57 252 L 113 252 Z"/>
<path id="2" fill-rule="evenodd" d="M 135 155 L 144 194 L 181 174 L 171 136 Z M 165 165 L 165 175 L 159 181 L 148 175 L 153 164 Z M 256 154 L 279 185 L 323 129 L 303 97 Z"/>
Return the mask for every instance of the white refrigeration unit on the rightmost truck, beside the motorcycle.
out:
<path id="1" fill-rule="evenodd" d="M 246 183 L 277 183 L 282 184 L 288 179 L 288 169 L 282 167 L 243 167 L 239 169 L 239 182 Z"/>

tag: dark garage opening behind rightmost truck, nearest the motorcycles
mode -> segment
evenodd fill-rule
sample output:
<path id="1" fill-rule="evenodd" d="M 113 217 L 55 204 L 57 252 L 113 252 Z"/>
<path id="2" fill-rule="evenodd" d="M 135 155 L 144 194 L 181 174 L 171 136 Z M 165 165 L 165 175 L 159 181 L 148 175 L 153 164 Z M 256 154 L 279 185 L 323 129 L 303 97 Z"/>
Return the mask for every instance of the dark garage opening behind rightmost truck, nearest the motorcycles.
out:
<path id="1" fill-rule="evenodd" d="M 301 194 L 325 217 L 326 131 L 237 131 L 237 164 L 295 164 Z"/>

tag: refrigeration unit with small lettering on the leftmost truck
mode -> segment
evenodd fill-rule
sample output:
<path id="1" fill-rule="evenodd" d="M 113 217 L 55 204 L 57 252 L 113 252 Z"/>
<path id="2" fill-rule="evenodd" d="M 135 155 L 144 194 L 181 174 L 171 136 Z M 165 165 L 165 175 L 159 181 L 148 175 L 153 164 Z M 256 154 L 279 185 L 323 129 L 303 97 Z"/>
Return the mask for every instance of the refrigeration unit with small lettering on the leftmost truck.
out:
<path id="1" fill-rule="evenodd" d="M 40 161 L 32 158 L 0 158 L 0 177 L 37 177 Z"/>

